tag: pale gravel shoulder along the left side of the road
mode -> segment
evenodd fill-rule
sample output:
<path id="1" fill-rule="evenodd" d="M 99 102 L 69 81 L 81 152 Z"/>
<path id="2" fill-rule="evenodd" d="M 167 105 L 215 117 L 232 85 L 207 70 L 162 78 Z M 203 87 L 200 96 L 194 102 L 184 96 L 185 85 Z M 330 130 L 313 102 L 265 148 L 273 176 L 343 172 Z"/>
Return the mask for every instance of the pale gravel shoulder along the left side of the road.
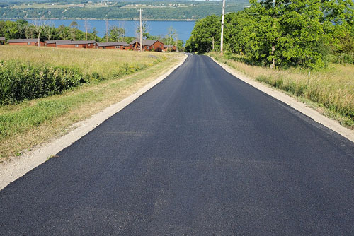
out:
<path id="1" fill-rule="evenodd" d="M 120 110 L 125 108 L 127 105 L 130 105 L 130 103 L 134 102 L 137 98 L 163 81 L 173 71 L 178 69 L 178 67 L 185 62 L 187 57 L 188 55 L 184 54 L 184 58 L 176 66 L 173 66 L 162 76 L 159 76 L 159 78 L 156 78 L 156 80 L 148 83 L 143 88 L 140 88 L 136 93 L 121 100 L 120 102 L 110 105 L 110 107 L 106 107 L 104 110 L 98 112 L 97 114 L 93 114 L 88 119 L 84 119 L 81 122 L 73 124 L 71 128 L 73 130 L 69 131 L 68 134 L 61 136 L 54 141 L 51 141 L 50 143 L 46 143 L 28 154 L 22 155 L 21 158 L 13 158 L 12 160 L 0 163 L 0 190 L 4 189 L 8 184 L 25 175 L 30 170 L 33 170 L 40 164 L 45 163 L 45 161 L 47 161 L 50 156 L 55 155 L 59 153 L 59 151 L 62 151 L 64 148 L 72 145 L 72 143 L 78 141 L 97 126 L 105 122 L 106 119 L 120 112 Z"/>

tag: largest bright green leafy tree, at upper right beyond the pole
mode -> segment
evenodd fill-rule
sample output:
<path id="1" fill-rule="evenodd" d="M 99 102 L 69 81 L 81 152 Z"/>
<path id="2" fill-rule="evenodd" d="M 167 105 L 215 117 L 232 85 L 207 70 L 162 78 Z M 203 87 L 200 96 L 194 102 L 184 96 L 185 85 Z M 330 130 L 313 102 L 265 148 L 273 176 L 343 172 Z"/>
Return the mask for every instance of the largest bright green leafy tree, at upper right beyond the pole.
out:
<path id="1" fill-rule="evenodd" d="M 324 66 L 321 47 L 338 47 L 353 20 L 351 0 L 251 0 L 257 25 L 252 57 L 275 66 Z"/>

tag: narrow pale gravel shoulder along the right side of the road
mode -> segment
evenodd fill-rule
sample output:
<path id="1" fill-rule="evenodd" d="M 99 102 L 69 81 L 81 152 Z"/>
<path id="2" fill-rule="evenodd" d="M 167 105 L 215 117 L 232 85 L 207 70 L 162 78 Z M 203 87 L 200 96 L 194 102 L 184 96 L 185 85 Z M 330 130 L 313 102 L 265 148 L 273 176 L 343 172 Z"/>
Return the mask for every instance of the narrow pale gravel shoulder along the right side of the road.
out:
<path id="1" fill-rule="evenodd" d="M 208 56 L 208 57 L 210 57 L 210 56 Z M 312 107 L 308 107 L 303 102 L 299 102 L 295 98 L 292 98 L 289 95 L 282 93 L 279 90 L 275 90 L 273 88 L 270 88 L 268 85 L 265 85 L 265 84 L 258 82 L 252 78 L 249 78 L 248 76 L 244 75 L 244 73 L 241 73 L 241 71 L 237 71 L 236 69 L 232 68 L 231 66 L 228 66 L 227 64 L 223 64 L 222 62 L 215 60 L 215 58 L 213 58 L 213 57 L 210 57 L 210 58 L 213 61 L 215 61 L 216 64 L 218 64 L 219 66 L 222 66 L 222 68 L 225 71 L 232 74 L 232 76 L 235 76 L 236 78 L 239 78 L 241 81 L 248 83 L 253 88 L 261 90 L 263 93 L 266 93 L 266 94 L 270 95 L 271 97 L 273 97 L 277 100 L 280 100 L 281 102 L 284 102 L 285 104 L 289 105 L 290 107 L 294 108 L 295 110 L 301 112 L 302 114 L 305 114 L 307 117 L 310 117 L 315 122 L 322 124 L 323 126 L 326 126 L 327 128 L 335 131 L 336 133 L 340 134 L 344 138 L 347 138 L 348 140 L 350 140 L 354 143 L 354 130 L 350 130 L 346 127 L 343 127 L 343 126 L 341 126 L 341 124 L 339 124 L 335 120 L 325 117 L 323 114 L 317 112 Z"/>

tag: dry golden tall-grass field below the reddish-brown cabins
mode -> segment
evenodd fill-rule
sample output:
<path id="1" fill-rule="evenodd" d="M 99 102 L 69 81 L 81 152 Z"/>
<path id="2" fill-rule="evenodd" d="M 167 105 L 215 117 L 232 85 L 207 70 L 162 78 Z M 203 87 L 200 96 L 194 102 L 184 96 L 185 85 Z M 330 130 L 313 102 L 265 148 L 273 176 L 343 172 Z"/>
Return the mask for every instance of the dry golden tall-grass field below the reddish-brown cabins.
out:
<path id="1" fill-rule="evenodd" d="M 152 57 L 153 56 L 153 57 Z M 72 66 L 81 73 L 97 73 L 103 78 L 120 76 L 125 71 L 138 71 L 166 59 L 157 52 L 132 52 L 117 49 L 62 49 L 54 47 L 0 47 L 0 60 L 21 59 L 34 64 Z"/>

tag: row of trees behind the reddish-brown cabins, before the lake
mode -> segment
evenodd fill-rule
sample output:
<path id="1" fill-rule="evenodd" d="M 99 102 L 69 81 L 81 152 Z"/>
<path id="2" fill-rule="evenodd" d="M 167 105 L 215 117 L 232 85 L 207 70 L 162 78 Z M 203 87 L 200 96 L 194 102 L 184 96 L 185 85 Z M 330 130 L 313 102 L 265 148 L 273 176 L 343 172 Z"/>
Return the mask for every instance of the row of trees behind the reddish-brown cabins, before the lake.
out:
<path id="1" fill-rule="evenodd" d="M 97 36 L 97 29 L 91 28 L 89 21 L 84 21 L 84 31 L 79 30 L 79 24 L 73 20 L 69 26 L 59 25 L 55 28 L 54 25 L 50 25 L 46 20 L 33 20 L 31 23 L 27 20 L 1 20 L 0 21 L 0 36 L 8 39 L 29 39 L 39 38 L 40 41 L 45 40 L 95 40 L 96 42 L 118 42 L 125 41 L 127 43 L 132 42 L 135 37 L 125 35 L 125 28 L 117 25 L 109 25 L 106 21 L 105 35 L 104 37 Z M 139 34 L 139 27 L 136 30 Z M 149 27 L 144 22 L 142 27 L 142 35 L 147 40 L 159 40 L 165 45 L 178 45 L 178 49 L 183 50 L 183 40 L 177 39 L 176 30 L 169 28 L 168 33 L 164 36 L 150 35 Z"/>

